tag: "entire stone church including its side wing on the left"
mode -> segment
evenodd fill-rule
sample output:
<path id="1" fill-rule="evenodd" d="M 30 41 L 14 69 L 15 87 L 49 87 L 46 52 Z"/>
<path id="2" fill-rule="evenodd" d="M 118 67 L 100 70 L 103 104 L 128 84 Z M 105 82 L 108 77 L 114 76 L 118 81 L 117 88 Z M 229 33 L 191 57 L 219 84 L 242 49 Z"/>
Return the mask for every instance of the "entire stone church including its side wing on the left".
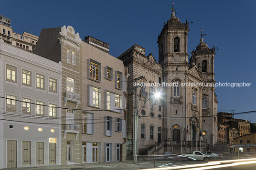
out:
<path id="1" fill-rule="evenodd" d="M 117 57 L 128 67 L 128 89 L 139 76 L 144 78 L 137 83 L 159 83 L 137 88 L 136 100 L 135 90 L 128 90 L 128 108 L 138 103 L 138 154 L 180 153 L 181 145 L 183 152 L 204 151 L 217 142 L 215 47 L 201 38 L 189 59 L 188 32 L 189 22 L 181 23 L 172 12 L 158 36 L 158 63 L 138 45 Z M 158 91 L 161 99 L 151 98 Z M 134 110 L 128 110 L 127 119 L 127 151 L 133 154 Z"/>

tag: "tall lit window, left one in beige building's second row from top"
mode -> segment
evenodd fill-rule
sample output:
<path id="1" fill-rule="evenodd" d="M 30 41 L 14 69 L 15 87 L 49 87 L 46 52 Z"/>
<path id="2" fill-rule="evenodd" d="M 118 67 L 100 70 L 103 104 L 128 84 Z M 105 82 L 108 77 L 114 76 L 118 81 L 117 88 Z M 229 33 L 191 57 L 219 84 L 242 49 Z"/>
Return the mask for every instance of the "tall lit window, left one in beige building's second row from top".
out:
<path id="1" fill-rule="evenodd" d="M 100 101 L 100 99 L 101 99 L 101 89 L 97 86 L 89 84 L 88 85 L 88 91 L 89 91 L 89 93 L 88 93 L 89 94 L 88 95 L 88 105 L 100 108 L 101 107 L 101 101 Z"/>

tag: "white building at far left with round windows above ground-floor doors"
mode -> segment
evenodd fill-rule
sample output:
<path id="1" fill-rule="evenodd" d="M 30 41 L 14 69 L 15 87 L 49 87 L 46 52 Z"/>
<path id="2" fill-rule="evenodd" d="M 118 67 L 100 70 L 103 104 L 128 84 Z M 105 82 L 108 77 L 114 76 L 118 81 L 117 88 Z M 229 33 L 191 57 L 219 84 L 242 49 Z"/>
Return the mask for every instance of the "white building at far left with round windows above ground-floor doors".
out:
<path id="1" fill-rule="evenodd" d="M 61 164 L 61 68 L 0 39 L 0 168 Z"/>

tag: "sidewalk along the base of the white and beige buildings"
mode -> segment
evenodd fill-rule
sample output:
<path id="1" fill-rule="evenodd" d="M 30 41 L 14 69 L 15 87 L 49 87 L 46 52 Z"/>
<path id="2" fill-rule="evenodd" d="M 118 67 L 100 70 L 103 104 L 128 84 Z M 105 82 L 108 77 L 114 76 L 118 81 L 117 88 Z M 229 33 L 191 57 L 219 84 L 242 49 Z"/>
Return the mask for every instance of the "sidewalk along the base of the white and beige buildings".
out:
<path id="1" fill-rule="evenodd" d="M 138 162 L 137 165 L 139 167 L 139 165 L 141 166 L 142 164 L 147 164 L 147 162 Z M 4 168 L 2 170 L 91 170 L 94 168 L 114 168 L 119 166 L 124 167 L 136 165 L 133 164 L 132 160 L 127 160 L 123 162 L 80 163 L 75 165 L 49 165 L 40 167 Z"/>

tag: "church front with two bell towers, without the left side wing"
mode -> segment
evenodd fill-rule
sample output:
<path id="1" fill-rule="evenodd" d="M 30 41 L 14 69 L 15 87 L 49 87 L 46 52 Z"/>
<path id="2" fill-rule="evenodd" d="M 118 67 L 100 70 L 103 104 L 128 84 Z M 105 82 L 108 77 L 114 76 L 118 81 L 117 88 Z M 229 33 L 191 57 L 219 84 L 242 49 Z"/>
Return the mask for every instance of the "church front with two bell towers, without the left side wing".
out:
<path id="1" fill-rule="evenodd" d="M 188 61 L 189 22 L 181 23 L 171 8 L 171 18 L 158 36 L 159 63 L 163 82 L 163 138 L 171 141 L 204 141 L 213 148 L 217 142 L 217 99 L 214 88 L 214 54 L 203 42 Z M 204 84 L 212 86 L 204 86 Z M 198 84 L 198 85 L 196 85 Z M 201 86 L 200 86 L 201 84 Z M 207 84 L 207 85 L 208 85 Z M 186 132 L 188 129 L 188 133 Z M 203 134 L 201 134 L 201 132 Z M 198 148 L 199 149 L 199 148 Z"/>

